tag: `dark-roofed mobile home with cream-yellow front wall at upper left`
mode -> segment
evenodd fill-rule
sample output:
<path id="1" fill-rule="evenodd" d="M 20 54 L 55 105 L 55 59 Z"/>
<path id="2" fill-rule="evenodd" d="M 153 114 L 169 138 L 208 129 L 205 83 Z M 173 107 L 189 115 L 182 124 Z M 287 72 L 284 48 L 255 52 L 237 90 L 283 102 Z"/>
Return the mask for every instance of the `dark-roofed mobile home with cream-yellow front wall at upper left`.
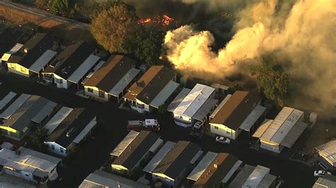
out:
<path id="1" fill-rule="evenodd" d="M 56 56 L 57 38 L 46 33 L 36 33 L 7 61 L 8 71 L 30 77 L 40 72 Z"/>

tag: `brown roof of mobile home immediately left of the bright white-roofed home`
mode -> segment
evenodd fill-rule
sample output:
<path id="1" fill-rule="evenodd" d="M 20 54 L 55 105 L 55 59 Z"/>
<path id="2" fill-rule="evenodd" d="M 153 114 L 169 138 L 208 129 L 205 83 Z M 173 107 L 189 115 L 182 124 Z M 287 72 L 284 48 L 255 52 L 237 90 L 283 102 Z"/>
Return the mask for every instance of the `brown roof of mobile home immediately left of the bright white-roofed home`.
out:
<path id="1" fill-rule="evenodd" d="M 151 66 L 137 82 L 130 86 L 124 98 L 129 100 L 135 100 L 136 98 L 150 104 L 174 76 L 174 71 L 165 66 Z"/>

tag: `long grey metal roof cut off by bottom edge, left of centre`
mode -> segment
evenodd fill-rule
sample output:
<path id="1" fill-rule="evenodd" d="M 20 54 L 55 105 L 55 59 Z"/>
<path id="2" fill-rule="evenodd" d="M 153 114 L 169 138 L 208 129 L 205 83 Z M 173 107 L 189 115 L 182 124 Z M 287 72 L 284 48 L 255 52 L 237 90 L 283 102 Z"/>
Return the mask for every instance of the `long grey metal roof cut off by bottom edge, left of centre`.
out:
<path id="1" fill-rule="evenodd" d="M 113 175 L 112 173 L 96 170 L 85 178 L 79 188 L 98 188 L 98 187 L 149 187 L 145 184 L 129 180 L 125 177 Z"/>

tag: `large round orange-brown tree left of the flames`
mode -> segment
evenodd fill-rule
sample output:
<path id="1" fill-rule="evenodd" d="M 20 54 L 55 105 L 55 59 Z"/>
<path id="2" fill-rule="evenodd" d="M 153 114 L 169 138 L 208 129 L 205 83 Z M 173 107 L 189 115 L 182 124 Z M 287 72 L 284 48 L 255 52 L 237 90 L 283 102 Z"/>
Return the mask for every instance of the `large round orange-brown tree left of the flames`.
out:
<path id="1" fill-rule="evenodd" d="M 121 1 L 111 1 L 109 6 L 91 21 L 91 33 L 109 52 L 129 54 L 140 27 L 135 8 Z"/>

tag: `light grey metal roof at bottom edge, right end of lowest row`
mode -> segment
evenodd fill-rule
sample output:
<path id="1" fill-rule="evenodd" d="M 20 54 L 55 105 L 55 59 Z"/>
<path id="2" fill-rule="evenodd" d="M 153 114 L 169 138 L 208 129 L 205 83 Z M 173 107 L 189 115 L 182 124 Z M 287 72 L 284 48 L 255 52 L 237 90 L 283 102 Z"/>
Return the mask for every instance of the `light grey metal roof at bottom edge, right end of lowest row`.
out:
<path id="1" fill-rule="evenodd" d="M 247 177 L 246 182 L 242 185 L 242 187 L 257 187 L 262 179 L 269 174 L 270 169 L 263 167 L 261 165 L 257 165 L 254 168 L 253 172 Z"/>

